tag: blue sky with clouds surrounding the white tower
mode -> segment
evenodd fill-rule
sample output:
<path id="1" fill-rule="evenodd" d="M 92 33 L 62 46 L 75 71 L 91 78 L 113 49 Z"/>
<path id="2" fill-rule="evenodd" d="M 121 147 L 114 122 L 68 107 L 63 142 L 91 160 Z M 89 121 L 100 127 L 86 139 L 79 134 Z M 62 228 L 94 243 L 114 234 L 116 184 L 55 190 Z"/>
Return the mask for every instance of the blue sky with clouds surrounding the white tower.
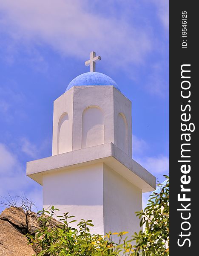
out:
<path id="1" fill-rule="evenodd" d="M 51 155 L 53 101 L 89 71 L 90 51 L 132 102 L 133 158 L 164 180 L 168 18 L 167 0 L 0 0 L 0 195 L 23 192 L 41 207 L 26 162 Z"/>

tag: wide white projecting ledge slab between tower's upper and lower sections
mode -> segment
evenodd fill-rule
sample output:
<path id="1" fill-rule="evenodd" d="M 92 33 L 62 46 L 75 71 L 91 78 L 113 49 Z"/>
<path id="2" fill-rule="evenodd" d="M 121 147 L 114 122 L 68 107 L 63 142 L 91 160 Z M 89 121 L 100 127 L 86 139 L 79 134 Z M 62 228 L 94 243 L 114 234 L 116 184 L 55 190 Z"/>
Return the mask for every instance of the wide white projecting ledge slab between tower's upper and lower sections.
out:
<path id="1" fill-rule="evenodd" d="M 58 172 L 77 166 L 88 166 L 93 163 L 105 163 L 132 184 L 142 189 L 142 192 L 156 189 L 156 178 L 113 143 L 82 148 L 28 162 L 26 173 L 42 185 L 45 173 Z"/>

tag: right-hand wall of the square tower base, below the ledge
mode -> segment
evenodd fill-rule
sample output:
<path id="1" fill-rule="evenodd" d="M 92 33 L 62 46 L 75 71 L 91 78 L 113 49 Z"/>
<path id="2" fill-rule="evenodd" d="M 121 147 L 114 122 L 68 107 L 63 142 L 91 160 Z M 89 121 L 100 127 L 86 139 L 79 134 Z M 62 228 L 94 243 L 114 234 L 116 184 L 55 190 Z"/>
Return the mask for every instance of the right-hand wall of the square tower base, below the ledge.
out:
<path id="1" fill-rule="evenodd" d="M 128 236 L 139 232 L 139 218 L 135 212 L 142 209 L 141 189 L 104 164 L 104 232 L 128 231 Z"/>

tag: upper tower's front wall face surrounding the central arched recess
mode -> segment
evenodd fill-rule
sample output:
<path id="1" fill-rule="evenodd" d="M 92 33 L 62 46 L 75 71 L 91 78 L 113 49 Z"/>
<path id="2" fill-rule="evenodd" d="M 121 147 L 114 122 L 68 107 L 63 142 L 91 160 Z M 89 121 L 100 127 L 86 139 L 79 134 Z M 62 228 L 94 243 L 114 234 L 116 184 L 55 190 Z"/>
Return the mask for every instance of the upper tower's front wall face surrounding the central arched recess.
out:
<path id="1" fill-rule="evenodd" d="M 102 110 L 104 115 L 104 142 L 114 140 L 114 104 L 112 86 L 75 86 L 73 107 L 73 150 L 82 148 L 82 113 L 89 107 Z M 97 134 L 96 134 L 97 135 Z M 96 136 L 98 140 L 98 137 Z M 102 140 L 99 141 L 101 143 Z M 96 142 L 92 143 L 97 145 Z M 91 145 L 91 142 L 90 144 Z"/>

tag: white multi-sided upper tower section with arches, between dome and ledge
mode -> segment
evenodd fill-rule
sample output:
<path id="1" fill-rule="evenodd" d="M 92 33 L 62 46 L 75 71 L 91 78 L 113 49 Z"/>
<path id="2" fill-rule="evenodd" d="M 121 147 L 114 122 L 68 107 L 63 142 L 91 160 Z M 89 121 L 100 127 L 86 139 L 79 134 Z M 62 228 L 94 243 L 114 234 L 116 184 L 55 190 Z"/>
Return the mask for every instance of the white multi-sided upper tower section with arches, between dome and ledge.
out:
<path id="1" fill-rule="evenodd" d="M 68 113 L 68 123 L 64 122 L 67 127 L 61 128 L 60 143 L 59 122 L 63 113 Z M 121 118 L 117 122 L 119 113 L 125 116 L 125 131 Z M 54 101 L 53 155 L 111 142 L 132 156 L 131 102 L 116 88 L 74 86 Z"/>

